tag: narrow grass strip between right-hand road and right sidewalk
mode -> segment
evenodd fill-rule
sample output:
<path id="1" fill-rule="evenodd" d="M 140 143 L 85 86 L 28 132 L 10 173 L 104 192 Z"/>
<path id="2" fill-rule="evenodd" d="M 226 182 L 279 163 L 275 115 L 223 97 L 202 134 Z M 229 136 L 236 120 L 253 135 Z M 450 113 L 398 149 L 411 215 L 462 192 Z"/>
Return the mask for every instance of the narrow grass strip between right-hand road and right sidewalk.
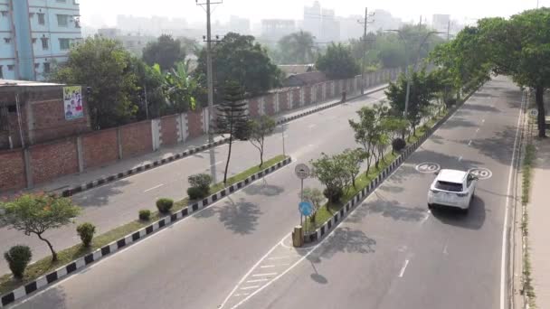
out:
<path id="1" fill-rule="evenodd" d="M 526 145 L 526 154 L 523 159 L 521 173 L 522 173 L 522 186 L 521 186 L 521 204 L 523 206 L 523 218 L 521 222 L 522 235 L 525 242 L 524 257 L 523 257 L 523 294 L 527 296 L 529 306 L 536 308 L 535 304 L 535 288 L 533 287 L 533 280 L 531 278 L 531 258 L 529 249 L 529 229 L 528 229 L 528 213 L 527 204 L 530 201 L 531 192 L 531 178 L 533 176 L 533 167 L 536 158 L 535 145 Z"/>

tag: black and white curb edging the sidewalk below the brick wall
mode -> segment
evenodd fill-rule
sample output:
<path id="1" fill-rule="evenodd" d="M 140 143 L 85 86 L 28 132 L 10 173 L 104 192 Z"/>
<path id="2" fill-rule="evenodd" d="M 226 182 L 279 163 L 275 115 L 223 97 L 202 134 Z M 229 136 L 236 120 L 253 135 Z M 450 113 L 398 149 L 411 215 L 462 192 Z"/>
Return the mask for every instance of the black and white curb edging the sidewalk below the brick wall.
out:
<path id="1" fill-rule="evenodd" d="M 378 92 L 380 90 L 384 90 L 384 89 L 387 89 L 387 88 L 388 88 L 387 85 L 384 86 L 384 87 L 378 87 L 378 88 L 366 91 L 365 94 L 358 95 L 358 96 L 353 97 L 353 98 L 348 98 L 348 100 L 361 98 L 361 97 L 364 97 L 366 95 L 373 94 L 375 92 Z M 295 119 L 298 119 L 298 118 L 301 118 L 301 117 L 306 117 L 308 115 L 311 115 L 313 113 L 317 113 L 318 111 L 321 111 L 321 110 L 324 110 L 324 109 L 327 109 L 327 108 L 334 108 L 334 107 L 336 107 L 340 104 L 342 104 L 342 102 L 338 101 L 338 102 L 335 102 L 335 103 L 327 104 L 325 106 L 321 106 L 319 108 L 309 109 L 309 110 L 307 110 L 303 113 L 294 115 L 292 117 L 283 117 L 283 118 L 280 118 L 279 120 L 277 120 L 277 125 L 288 123 L 292 120 L 295 120 Z M 201 146 L 189 149 L 189 150 L 185 150 L 185 152 L 183 152 L 183 153 L 176 154 L 176 155 L 171 155 L 171 156 L 168 156 L 164 159 L 156 160 L 155 162 L 152 162 L 150 164 L 140 165 L 140 166 L 137 166 L 137 167 L 135 167 L 131 170 L 127 170 L 127 171 L 124 171 L 124 172 L 121 172 L 121 173 L 113 173 L 109 176 L 105 176 L 105 177 L 96 179 L 96 180 L 94 180 L 90 183 L 82 183 L 79 186 L 75 186 L 75 187 L 72 187 L 70 189 L 63 190 L 61 192 L 61 195 L 63 197 L 70 197 L 74 194 L 78 194 L 78 193 L 85 192 L 85 191 L 88 191 L 90 189 L 99 187 L 100 185 L 103 185 L 103 184 L 106 184 L 106 183 L 112 183 L 112 182 L 118 181 L 120 179 L 126 178 L 128 176 L 148 171 L 148 170 L 150 170 L 152 168 L 155 168 L 157 166 L 172 163 L 175 160 L 184 159 L 185 157 L 188 157 L 189 155 L 194 155 L 194 154 L 202 152 L 206 149 L 210 149 L 210 148 L 216 147 L 218 145 L 223 145 L 227 142 L 229 142 L 229 138 L 223 138 L 223 139 L 221 139 L 219 141 L 216 141 L 214 143 L 211 143 L 211 144 L 205 144 L 205 145 L 201 145 Z"/>

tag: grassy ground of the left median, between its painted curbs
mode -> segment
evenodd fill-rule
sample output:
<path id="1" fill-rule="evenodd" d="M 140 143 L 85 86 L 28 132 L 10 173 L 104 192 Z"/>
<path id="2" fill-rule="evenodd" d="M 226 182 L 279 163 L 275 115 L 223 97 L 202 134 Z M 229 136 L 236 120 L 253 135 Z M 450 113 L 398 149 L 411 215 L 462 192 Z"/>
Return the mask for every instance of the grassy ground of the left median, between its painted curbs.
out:
<path id="1" fill-rule="evenodd" d="M 283 161 L 286 158 L 284 155 L 278 155 L 266 162 L 262 165 L 260 168 L 259 166 L 251 167 L 250 169 L 238 173 L 231 178 L 227 180 L 228 185 L 232 185 L 233 183 L 239 183 L 242 180 L 250 177 L 254 173 L 258 173 L 261 170 L 264 170 L 270 166 L 273 166 L 275 164 L 278 164 L 279 162 Z M 211 186 L 211 192 L 219 192 L 223 190 L 224 186 L 223 183 L 217 183 Z M 182 201 L 176 201 L 174 203 L 174 206 L 172 208 L 172 213 L 176 211 L 181 211 L 185 207 L 189 205 L 189 198 L 185 198 Z M 136 212 L 137 216 L 137 212 Z M 94 237 L 94 239 L 91 242 L 90 248 L 83 248 L 81 244 L 72 246 L 71 248 L 63 249 L 59 252 L 57 252 L 58 261 L 55 263 L 52 263 L 52 257 L 44 257 L 41 260 L 36 261 L 35 263 L 29 265 L 29 267 L 26 268 L 24 272 L 24 278 L 22 280 L 14 280 L 12 274 L 6 274 L 4 276 L 0 276 L 0 295 L 4 295 L 5 293 L 8 293 L 15 288 L 18 288 L 19 286 L 26 285 L 27 283 L 33 282 L 40 276 L 44 276 L 53 270 L 62 267 L 64 265 L 67 265 L 74 261 L 75 259 L 81 258 L 86 256 L 87 254 L 102 248 L 104 246 L 109 245 L 113 241 L 116 241 L 118 239 L 122 239 L 123 237 L 126 237 L 128 234 L 131 234 L 133 232 L 136 232 L 139 229 L 143 229 L 153 222 L 157 220 L 161 220 L 162 218 L 169 216 L 165 214 L 160 214 L 158 211 L 151 213 L 151 219 L 147 221 L 142 220 L 134 220 L 127 224 L 121 225 L 118 228 L 111 229 L 103 234 L 98 235 L 97 237 Z M 46 246 L 44 244 L 44 246 Z"/>

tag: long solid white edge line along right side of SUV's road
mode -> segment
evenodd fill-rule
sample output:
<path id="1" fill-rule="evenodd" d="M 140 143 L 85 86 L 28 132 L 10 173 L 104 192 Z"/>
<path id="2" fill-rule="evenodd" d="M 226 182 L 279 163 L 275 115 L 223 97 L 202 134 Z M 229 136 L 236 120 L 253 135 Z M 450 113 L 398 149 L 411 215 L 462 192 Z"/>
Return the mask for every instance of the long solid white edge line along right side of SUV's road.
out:
<path id="1" fill-rule="evenodd" d="M 508 173 L 508 188 L 507 188 L 507 199 L 506 207 L 504 212 L 504 226 L 502 227 L 502 255 L 500 258 L 500 309 L 505 309 L 506 307 L 506 234 L 507 234 L 507 225 L 508 225 L 508 208 L 510 206 L 511 191 L 512 191 L 512 176 L 514 174 L 514 163 L 516 161 L 517 154 L 517 138 L 519 137 L 519 126 L 521 124 L 521 115 L 523 112 L 523 107 L 525 106 L 523 102 L 522 108 L 519 109 L 519 115 L 517 117 L 517 127 L 516 127 L 516 138 L 514 139 L 514 151 L 512 152 L 512 160 L 510 162 L 510 171 Z"/>

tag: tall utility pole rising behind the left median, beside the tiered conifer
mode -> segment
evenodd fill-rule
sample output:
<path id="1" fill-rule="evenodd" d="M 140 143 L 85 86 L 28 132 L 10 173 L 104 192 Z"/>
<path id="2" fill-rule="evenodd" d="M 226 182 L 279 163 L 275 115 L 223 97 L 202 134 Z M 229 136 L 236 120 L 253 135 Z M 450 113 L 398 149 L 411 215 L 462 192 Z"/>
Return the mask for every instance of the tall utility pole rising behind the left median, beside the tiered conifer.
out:
<path id="1" fill-rule="evenodd" d="M 206 128 L 206 133 L 208 134 L 208 143 L 213 143 L 213 133 L 210 129 L 211 119 L 213 118 L 213 65 L 212 65 L 212 24 L 210 22 L 211 15 L 211 5 L 221 5 L 222 2 L 212 2 L 211 0 L 206 0 L 206 3 L 199 3 L 199 0 L 195 0 L 196 5 L 205 6 L 204 11 L 206 11 L 206 84 L 208 87 L 208 115 L 204 116 L 204 124 Z M 215 172 L 215 155 L 213 150 L 210 151 L 210 170 L 212 173 L 213 183 L 216 183 L 216 172 Z"/>

